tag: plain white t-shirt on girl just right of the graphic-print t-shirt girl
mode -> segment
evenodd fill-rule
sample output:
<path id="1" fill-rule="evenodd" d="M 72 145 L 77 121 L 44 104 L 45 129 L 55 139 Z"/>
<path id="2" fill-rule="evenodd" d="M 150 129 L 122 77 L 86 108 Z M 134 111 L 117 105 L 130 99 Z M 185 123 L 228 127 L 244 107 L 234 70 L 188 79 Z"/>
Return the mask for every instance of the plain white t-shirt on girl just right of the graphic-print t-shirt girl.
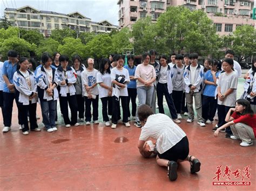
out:
<path id="1" fill-rule="evenodd" d="M 110 73 L 97 73 L 97 84 L 103 83 L 106 86 L 112 86 L 112 80 Z M 99 85 L 99 98 L 105 98 L 109 96 L 109 90 Z"/>

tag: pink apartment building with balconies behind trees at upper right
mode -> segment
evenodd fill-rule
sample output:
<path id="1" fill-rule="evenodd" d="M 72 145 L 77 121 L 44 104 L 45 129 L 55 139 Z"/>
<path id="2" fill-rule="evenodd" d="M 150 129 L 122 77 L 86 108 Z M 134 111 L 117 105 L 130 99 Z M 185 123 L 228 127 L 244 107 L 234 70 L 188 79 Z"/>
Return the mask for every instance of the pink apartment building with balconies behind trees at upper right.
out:
<path id="1" fill-rule="evenodd" d="M 191 11 L 201 9 L 212 19 L 219 35 L 229 35 L 237 26 L 250 24 L 254 0 L 118 0 L 119 26 L 134 24 L 139 18 L 151 16 L 155 22 L 169 6 L 183 5 Z M 255 9 L 255 8 L 254 8 Z"/>

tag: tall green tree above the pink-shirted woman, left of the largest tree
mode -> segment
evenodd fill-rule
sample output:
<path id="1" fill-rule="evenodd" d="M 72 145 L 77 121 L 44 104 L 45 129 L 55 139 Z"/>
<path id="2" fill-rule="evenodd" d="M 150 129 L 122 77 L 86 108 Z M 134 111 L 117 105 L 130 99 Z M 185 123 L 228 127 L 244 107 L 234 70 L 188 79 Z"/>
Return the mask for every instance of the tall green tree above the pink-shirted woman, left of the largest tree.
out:
<path id="1" fill-rule="evenodd" d="M 151 49 L 156 49 L 156 24 L 151 22 L 151 17 L 140 18 L 132 26 L 132 41 L 136 54 L 142 54 Z"/>

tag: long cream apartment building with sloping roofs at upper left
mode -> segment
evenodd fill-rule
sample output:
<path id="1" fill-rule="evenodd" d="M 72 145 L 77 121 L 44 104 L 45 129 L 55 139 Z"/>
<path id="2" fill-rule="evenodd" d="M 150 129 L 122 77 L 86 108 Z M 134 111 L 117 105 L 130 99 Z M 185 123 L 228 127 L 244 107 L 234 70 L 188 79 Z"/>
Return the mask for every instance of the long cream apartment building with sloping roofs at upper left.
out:
<path id="1" fill-rule="evenodd" d="M 6 8 L 4 15 L 13 26 L 18 26 L 25 30 L 38 30 L 45 37 L 51 36 L 54 29 L 70 29 L 79 32 L 110 33 L 118 30 L 118 26 L 108 21 L 93 22 L 90 18 L 79 12 L 69 14 L 53 11 L 41 11 L 31 6 L 23 6 L 18 9 Z"/>

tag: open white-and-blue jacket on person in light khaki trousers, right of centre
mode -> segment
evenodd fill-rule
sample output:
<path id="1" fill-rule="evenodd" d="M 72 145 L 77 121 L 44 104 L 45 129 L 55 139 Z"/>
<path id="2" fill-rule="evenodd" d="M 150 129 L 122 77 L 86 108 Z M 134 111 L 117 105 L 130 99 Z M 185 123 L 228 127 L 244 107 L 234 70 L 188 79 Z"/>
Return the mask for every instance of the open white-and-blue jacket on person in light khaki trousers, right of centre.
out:
<path id="1" fill-rule="evenodd" d="M 204 80 L 204 67 L 200 64 L 198 64 L 197 69 L 196 69 L 196 73 L 195 73 L 195 80 L 194 80 L 194 84 L 191 84 L 191 70 L 190 70 L 190 65 L 188 65 L 187 67 L 185 67 L 185 71 L 184 71 L 184 83 L 185 83 L 185 92 L 189 93 L 190 92 L 190 87 L 196 86 L 196 89 L 194 90 L 194 92 L 200 92 L 201 88 L 202 88 L 202 83 Z"/>

